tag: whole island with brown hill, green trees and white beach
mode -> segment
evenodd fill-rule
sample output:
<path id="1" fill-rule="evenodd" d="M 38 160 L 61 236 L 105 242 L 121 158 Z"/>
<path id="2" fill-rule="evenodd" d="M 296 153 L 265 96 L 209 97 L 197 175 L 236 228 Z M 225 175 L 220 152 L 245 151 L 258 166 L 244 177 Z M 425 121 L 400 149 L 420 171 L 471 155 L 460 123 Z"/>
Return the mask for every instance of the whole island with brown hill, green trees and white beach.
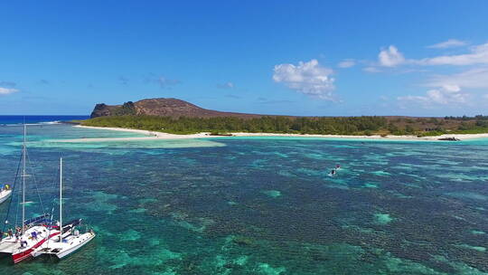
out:
<path id="1" fill-rule="evenodd" d="M 221 112 L 177 99 L 97 104 L 82 127 L 135 129 L 155 137 L 302 136 L 371 137 L 457 141 L 488 137 L 488 116 L 296 117 Z M 159 135 L 157 133 L 162 133 Z M 168 136 L 171 135 L 171 136 Z"/>

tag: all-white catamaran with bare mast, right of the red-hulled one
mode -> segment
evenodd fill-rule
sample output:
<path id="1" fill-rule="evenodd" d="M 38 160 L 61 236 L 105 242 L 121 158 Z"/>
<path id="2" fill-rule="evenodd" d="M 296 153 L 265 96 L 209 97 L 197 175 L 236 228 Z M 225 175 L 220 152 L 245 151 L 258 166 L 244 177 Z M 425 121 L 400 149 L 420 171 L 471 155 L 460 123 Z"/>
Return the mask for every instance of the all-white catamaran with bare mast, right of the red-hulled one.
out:
<path id="1" fill-rule="evenodd" d="M 81 247 L 95 238 L 95 232 L 89 230 L 81 233 L 76 226 L 81 223 L 81 219 L 71 221 L 62 226 L 61 234 L 52 237 L 48 242 L 33 251 L 33 257 L 42 254 L 55 255 L 62 259 L 71 253 L 78 251 Z M 60 224 L 62 224 L 62 158 L 60 159 Z"/>

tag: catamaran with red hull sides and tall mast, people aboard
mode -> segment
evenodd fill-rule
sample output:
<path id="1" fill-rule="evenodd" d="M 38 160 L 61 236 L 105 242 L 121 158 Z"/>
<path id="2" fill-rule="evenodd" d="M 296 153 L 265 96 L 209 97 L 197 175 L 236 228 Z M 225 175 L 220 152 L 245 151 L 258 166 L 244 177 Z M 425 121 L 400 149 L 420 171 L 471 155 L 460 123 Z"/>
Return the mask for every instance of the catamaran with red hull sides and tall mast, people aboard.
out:
<path id="1" fill-rule="evenodd" d="M 32 257 L 32 252 L 39 248 L 42 243 L 59 235 L 59 229 L 51 228 L 52 224 L 50 215 L 44 213 L 32 219 L 25 219 L 25 179 L 28 176 L 26 173 L 26 125 L 23 125 L 23 148 L 22 148 L 22 226 L 17 226 L 16 221 L 14 229 L 10 228 L 6 232 L 6 237 L 2 234 L 0 236 L 0 253 L 11 254 L 14 263 L 26 260 Z M 13 188 L 14 189 L 14 188 Z M 10 208 L 10 207 L 9 207 Z M 7 213 L 8 218 L 8 213 Z M 5 219 L 5 226 L 9 224 Z"/>

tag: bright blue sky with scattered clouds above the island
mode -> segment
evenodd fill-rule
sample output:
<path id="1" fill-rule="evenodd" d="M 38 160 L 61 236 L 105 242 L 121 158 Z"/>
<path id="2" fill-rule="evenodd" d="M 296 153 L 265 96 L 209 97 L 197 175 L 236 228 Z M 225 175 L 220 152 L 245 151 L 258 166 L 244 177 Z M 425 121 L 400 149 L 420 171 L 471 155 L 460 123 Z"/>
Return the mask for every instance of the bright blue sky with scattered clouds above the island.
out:
<path id="1" fill-rule="evenodd" d="M 488 114 L 488 1 L 8 1 L 0 114 Z"/>

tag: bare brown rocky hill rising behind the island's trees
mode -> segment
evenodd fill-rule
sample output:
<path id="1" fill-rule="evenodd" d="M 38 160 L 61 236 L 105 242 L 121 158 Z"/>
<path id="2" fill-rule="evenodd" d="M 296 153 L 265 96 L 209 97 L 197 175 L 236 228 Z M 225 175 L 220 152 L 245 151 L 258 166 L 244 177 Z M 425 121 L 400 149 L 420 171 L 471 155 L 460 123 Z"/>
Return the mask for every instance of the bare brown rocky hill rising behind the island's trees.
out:
<path id="1" fill-rule="evenodd" d="M 190 102 L 177 99 L 148 99 L 136 102 L 128 101 L 123 105 L 97 104 L 91 118 L 105 116 L 124 115 L 148 115 L 160 117 L 189 117 L 189 118 L 212 118 L 212 117 L 239 117 L 244 119 L 259 118 L 261 115 L 243 114 L 233 112 L 221 112 L 211 109 L 202 109 Z"/>

